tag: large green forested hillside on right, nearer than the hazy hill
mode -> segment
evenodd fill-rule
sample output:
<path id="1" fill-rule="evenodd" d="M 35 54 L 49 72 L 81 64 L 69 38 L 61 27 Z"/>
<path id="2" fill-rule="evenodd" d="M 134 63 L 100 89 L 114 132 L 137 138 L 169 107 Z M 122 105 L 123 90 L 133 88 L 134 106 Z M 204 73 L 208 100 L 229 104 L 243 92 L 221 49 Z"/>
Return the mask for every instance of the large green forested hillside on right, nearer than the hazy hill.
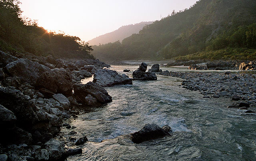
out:
<path id="1" fill-rule="evenodd" d="M 255 8 L 255 0 L 200 0 L 122 43 L 93 46 L 92 54 L 99 59 L 255 59 Z"/>

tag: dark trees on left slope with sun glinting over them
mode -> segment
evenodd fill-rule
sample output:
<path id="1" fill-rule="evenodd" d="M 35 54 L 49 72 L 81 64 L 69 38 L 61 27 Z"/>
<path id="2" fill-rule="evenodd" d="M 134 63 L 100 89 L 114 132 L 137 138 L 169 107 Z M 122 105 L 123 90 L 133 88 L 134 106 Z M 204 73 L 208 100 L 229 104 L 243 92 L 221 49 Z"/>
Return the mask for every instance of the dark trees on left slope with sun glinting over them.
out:
<path id="1" fill-rule="evenodd" d="M 93 58 L 92 47 L 79 37 L 48 32 L 34 20 L 22 19 L 19 0 L 0 0 L 0 50 L 56 57 Z"/>

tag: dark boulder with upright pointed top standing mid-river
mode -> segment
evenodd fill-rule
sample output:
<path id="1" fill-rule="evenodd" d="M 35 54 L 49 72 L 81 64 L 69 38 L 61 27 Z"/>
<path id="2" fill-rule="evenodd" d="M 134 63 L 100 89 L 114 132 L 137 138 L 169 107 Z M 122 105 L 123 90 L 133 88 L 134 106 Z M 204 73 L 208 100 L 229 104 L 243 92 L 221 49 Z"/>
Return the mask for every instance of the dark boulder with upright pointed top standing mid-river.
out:
<path id="1" fill-rule="evenodd" d="M 152 72 L 146 72 L 147 67 L 148 65 L 146 63 L 141 63 L 140 67 L 132 73 L 133 80 L 156 81 L 156 74 Z"/>

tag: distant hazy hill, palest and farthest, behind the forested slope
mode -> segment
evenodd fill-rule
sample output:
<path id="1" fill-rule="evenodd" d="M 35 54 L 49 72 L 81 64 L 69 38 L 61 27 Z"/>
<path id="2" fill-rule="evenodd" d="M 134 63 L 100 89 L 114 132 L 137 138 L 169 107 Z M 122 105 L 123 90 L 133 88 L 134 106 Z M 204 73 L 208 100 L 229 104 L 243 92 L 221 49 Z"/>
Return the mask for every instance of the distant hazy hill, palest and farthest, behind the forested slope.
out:
<path id="1" fill-rule="evenodd" d="M 112 31 L 110 33 L 106 33 L 104 35 L 98 36 L 90 41 L 88 41 L 91 45 L 100 45 L 106 43 L 113 43 L 116 41 L 122 41 L 124 38 L 129 37 L 133 33 L 139 33 L 139 31 L 148 24 L 152 24 L 153 22 L 140 22 L 138 24 L 131 24 L 122 26 L 119 29 Z"/>

